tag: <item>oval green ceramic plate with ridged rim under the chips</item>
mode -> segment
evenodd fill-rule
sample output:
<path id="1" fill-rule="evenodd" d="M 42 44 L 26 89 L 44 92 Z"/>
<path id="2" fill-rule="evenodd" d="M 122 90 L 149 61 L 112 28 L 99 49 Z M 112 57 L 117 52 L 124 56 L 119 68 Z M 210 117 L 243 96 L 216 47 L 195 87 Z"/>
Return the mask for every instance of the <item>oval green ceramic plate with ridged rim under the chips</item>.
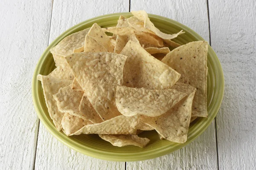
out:
<path id="1" fill-rule="evenodd" d="M 207 60 L 207 66 L 209 68 L 207 76 L 207 104 L 209 116 L 208 118 L 198 118 L 194 123 L 192 123 L 192 125 L 189 127 L 188 140 L 184 144 L 160 140 L 157 133 L 154 131 L 146 131 L 140 135 L 151 140 L 145 148 L 135 146 L 115 147 L 109 142 L 100 139 L 98 135 L 66 136 L 64 133 L 56 130 L 55 126 L 53 125 L 47 111 L 41 83 L 36 78 L 38 74 L 47 75 L 55 68 L 55 63 L 49 50 L 64 39 L 64 37 L 85 28 L 89 28 L 93 25 L 93 23 L 98 23 L 99 26 L 102 27 L 116 26 L 120 15 L 130 17 L 131 13 L 108 14 L 86 20 L 65 31 L 47 47 L 35 68 L 35 73 L 32 80 L 33 103 L 39 119 L 47 130 L 49 130 L 49 132 L 60 142 L 73 150 L 87 156 L 109 161 L 141 161 L 157 158 L 159 156 L 172 153 L 173 151 L 178 150 L 192 142 L 196 137 L 203 133 L 204 130 L 206 130 L 218 113 L 224 93 L 224 77 L 218 57 L 211 47 L 209 47 L 208 50 Z M 186 34 L 182 34 L 177 37 L 175 42 L 186 44 L 192 41 L 204 40 L 190 28 L 174 20 L 153 14 L 148 14 L 148 16 L 155 26 L 165 33 L 173 34 L 179 32 L 180 30 L 184 30 Z"/>

